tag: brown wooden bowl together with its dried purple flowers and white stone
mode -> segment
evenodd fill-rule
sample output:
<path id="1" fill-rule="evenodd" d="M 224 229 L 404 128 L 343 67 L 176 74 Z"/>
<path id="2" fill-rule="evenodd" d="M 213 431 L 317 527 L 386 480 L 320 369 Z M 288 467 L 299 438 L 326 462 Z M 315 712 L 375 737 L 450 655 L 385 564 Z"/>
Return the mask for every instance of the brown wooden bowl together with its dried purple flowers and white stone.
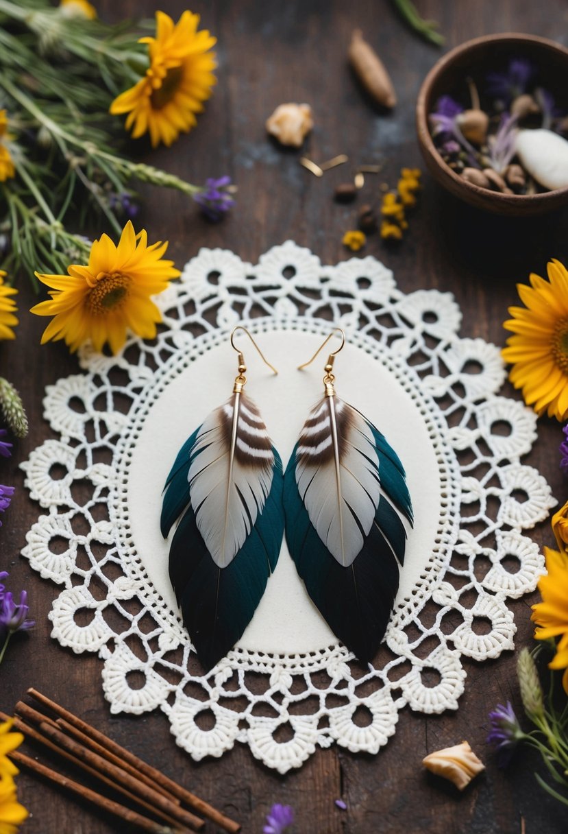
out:
<path id="1" fill-rule="evenodd" d="M 416 106 L 421 151 L 457 197 L 500 214 L 568 203 L 568 49 L 477 38 L 441 58 Z"/>

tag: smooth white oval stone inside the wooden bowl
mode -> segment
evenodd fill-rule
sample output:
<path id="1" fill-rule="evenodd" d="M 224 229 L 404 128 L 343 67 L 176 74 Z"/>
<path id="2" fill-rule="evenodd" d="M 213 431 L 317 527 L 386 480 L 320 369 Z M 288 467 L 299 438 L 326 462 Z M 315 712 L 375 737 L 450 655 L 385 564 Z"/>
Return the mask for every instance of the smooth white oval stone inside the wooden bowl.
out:
<path id="1" fill-rule="evenodd" d="M 516 154 L 523 168 L 545 188 L 568 185 L 568 142 L 545 128 L 520 130 L 516 137 Z"/>

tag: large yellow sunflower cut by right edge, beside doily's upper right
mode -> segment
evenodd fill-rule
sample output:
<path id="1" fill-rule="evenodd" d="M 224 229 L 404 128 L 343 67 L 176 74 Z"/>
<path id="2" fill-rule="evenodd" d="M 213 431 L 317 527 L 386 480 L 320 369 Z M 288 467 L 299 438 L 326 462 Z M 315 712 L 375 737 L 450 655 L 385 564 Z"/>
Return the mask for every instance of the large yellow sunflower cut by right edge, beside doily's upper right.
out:
<path id="1" fill-rule="evenodd" d="M 548 264 L 548 281 L 531 274 L 531 286 L 517 284 L 526 307 L 510 307 L 503 327 L 515 335 L 502 355 L 513 365 L 509 378 L 538 414 L 568 416 L 568 272 L 560 261 Z"/>

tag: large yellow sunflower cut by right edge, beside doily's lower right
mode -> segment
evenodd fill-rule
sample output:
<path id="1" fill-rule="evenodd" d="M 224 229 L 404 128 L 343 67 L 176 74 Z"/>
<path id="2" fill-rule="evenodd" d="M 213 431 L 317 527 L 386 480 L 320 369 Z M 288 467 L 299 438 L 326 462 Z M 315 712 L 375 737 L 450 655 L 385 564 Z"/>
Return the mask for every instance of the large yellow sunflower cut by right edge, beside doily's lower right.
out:
<path id="1" fill-rule="evenodd" d="M 536 622 L 536 640 L 560 637 L 551 669 L 566 669 L 562 686 L 568 695 L 568 555 L 545 547 L 546 576 L 541 576 L 538 589 L 542 602 L 532 606 L 531 620 Z"/>

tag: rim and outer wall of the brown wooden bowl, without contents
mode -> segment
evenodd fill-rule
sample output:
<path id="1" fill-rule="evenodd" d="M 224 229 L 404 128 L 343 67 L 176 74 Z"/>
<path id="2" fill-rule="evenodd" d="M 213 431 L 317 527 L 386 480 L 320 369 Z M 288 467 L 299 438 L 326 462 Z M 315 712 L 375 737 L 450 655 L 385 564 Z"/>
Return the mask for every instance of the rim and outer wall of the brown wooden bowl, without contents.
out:
<path id="1" fill-rule="evenodd" d="M 539 85 L 549 90 L 556 104 L 568 113 L 566 47 L 534 35 L 487 35 L 462 43 L 431 68 L 416 103 L 418 143 L 432 176 L 466 203 L 511 217 L 545 214 L 568 203 L 568 187 L 536 194 L 502 194 L 467 183 L 441 158 L 428 127 L 428 113 L 431 113 L 438 98 L 447 94 L 458 101 L 468 101 L 466 78 L 469 76 L 480 83 L 486 73 L 504 70 L 511 58 L 526 58 L 530 61 L 538 73 Z"/>

